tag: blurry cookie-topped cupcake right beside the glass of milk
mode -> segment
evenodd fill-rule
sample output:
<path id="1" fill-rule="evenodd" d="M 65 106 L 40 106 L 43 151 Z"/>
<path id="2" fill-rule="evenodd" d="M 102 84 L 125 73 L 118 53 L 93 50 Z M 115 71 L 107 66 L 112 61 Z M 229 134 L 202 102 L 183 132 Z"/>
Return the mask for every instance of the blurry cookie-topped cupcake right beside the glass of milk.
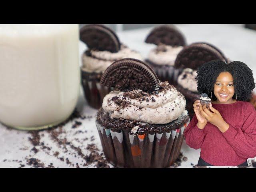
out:
<path id="1" fill-rule="evenodd" d="M 142 56 L 121 44 L 118 36 L 106 26 L 86 25 L 80 29 L 80 40 L 88 49 L 82 55 L 82 85 L 88 104 L 100 108 L 110 88 L 100 85 L 102 73 L 116 60 L 126 57 L 142 59 Z"/>

